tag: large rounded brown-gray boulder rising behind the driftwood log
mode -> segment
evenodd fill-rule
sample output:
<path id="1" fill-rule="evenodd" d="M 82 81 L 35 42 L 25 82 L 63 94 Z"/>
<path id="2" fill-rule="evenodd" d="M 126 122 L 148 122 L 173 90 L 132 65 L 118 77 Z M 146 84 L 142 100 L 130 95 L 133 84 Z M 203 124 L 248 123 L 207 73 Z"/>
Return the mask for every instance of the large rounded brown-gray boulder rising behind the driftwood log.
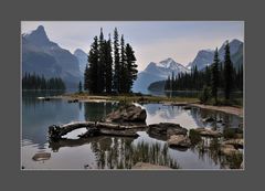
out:
<path id="1" fill-rule="evenodd" d="M 146 110 L 139 106 L 126 105 L 110 113 L 105 118 L 107 123 L 146 123 Z"/>

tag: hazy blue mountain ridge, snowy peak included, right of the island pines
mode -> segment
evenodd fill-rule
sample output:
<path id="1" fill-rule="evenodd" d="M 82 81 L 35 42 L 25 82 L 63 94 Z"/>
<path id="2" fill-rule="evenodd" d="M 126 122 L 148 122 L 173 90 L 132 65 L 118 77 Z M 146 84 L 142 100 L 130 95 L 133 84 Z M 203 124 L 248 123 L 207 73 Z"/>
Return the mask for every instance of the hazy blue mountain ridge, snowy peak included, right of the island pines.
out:
<path id="1" fill-rule="evenodd" d="M 224 46 L 225 42 L 219 50 L 219 59 L 221 62 L 224 60 Z M 230 42 L 231 60 L 234 67 L 239 67 L 241 64 L 243 64 L 243 46 L 244 43 L 240 40 L 234 39 Z M 134 84 L 134 91 L 148 93 L 149 85 L 151 85 L 151 88 L 149 89 L 161 89 L 165 85 L 162 81 L 167 79 L 172 72 L 174 72 L 174 75 L 178 75 L 179 73 L 189 73 L 194 66 L 197 66 L 199 71 L 204 70 L 206 66 L 213 63 L 213 50 L 200 50 L 194 60 L 190 62 L 187 67 L 174 62 L 172 59 L 167 59 L 159 63 L 151 62 L 148 64 L 145 71 L 138 74 L 138 78 Z"/>

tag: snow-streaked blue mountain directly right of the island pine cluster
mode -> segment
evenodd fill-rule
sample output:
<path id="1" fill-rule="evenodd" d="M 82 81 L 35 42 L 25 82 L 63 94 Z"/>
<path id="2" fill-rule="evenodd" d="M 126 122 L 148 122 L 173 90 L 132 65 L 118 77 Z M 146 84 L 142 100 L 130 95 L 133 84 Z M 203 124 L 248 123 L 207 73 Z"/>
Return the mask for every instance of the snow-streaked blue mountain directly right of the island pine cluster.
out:
<path id="1" fill-rule="evenodd" d="M 132 91 L 147 93 L 147 88 L 151 83 L 167 79 L 169 75 L 172 75 L 172 72 L 178 75 L 179 73 L 189 72 L 189 70 L 170 57 L 159 63 L 151 62 L 145 71 L 138 73 Z"/>

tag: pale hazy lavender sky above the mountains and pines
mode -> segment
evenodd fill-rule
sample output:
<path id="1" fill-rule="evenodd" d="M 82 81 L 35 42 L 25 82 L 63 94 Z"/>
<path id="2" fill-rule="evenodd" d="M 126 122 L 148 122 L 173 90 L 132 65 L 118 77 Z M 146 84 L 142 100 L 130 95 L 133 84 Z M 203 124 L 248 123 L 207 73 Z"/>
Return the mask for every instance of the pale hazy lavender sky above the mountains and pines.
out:
<path id="1" fill-rule="evenodd" d="M 187 65 L 199 50 L 220 47 L 225 40 L 244 40 L 243 21 L 22 21 L 21 32 L 38 25 L 45 28 L 51 41 L 72 53 L 76 49 L 87 53 L 100 28 L 107 39 L 117 26 L 134 47 L 139 71 L 167 57 Z"/>

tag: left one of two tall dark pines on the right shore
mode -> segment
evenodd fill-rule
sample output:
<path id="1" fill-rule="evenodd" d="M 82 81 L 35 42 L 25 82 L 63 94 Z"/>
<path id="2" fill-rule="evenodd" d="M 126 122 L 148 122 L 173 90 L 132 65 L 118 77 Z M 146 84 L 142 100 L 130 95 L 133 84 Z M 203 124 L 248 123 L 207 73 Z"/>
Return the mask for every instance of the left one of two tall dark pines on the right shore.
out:
<path id="1" fill-rule="evenodd" d="M 219 52 L 218 49 L 214 52 L 213 64 L 211 65 L 211 94 L 214 97 L 215 104 L 218 104 L 218 87 L 219 87 Z"/>

